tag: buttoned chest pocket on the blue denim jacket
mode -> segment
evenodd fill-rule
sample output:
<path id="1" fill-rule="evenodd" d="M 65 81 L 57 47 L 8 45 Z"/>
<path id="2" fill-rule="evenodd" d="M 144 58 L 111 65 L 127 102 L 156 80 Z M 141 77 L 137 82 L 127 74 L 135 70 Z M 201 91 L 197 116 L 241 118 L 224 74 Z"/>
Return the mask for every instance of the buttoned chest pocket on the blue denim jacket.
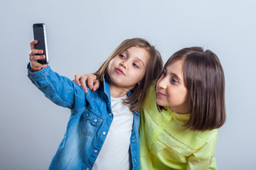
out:
<path id="1" fill-rule="evenodd" d="M 92 110 L 86 110 L 80 118 L 80 128 L 86 136 L 93 136 L 100 127 L 103 118 Z"/>

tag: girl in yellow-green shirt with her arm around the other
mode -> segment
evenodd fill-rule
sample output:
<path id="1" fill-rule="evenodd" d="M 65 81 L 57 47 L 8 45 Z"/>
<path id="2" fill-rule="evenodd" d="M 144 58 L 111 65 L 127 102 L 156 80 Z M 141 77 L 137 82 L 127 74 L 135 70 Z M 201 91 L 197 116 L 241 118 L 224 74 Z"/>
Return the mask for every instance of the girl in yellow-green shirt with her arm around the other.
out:
<path id="1" fill-rule="evenodd" d="M 225 123 L 225 78 L 218 57 L 201 47 L 175 52 L 149 89 L 141 118 L 142 170 L 217 169 L 217 128 Z"/>

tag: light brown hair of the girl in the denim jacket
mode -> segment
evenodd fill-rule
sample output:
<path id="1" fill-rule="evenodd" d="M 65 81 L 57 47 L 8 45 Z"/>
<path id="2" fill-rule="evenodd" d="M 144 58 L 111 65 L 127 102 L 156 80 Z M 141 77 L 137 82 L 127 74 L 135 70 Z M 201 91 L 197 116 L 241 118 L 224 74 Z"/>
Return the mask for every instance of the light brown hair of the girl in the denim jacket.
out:
<path id="1" fill-rule="evenodd" d="M 142 38 L 132 38 L 124 40 L 107 58 L 107 60 L 102 64 L 100 69 L 95 72 L 97 79 L 100 80 L 101 84 L 103 82 L 103 75 L 105 74 L 105 79 L 110 81 L 107 75 L 107 67 L 110 64 L 110 60 L 122 52 L 127 50 L 129 47 L 142 47 L 147 52 L 149 52 L 149 61 L 146 67 L 146 72 L 143 79 L 134 86 L 132 89 L 132 94 L 124 100 L 124 104 L 129 106 L 130 111 L 137 111 L 144 103 L 147 91 L 151 86 L 152 82 L 159 77 L 163 69 L 163 61 L 161 59 L 160 53 L 155 49 L 153 45 Z"/>

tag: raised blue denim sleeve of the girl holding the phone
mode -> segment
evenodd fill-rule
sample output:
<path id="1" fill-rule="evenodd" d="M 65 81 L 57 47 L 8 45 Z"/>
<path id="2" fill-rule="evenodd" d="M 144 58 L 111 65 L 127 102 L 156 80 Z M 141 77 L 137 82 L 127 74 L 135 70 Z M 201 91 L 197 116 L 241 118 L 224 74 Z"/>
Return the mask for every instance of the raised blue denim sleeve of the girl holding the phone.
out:
<path id="1" fill-rule="evenodd" d="M 85 108 L 85 91 L 78 84 L 53 72 L 50 66 L 38 72 L 30 70 L 31 66 L 28 64 L 28 78 L 50 101 L 72 110 Z"/>

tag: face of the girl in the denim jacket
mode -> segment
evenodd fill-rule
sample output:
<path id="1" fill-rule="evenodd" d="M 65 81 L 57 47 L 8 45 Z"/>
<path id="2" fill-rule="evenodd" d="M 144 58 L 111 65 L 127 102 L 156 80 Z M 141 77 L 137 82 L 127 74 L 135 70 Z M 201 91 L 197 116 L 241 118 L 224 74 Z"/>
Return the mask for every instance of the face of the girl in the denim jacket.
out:
<path id="1" fill-rule="evenodd" d="M 148 60 L 149 52 L 144 48 L 129 47 L 110 60 L 107 74 L 112 81 L 111 83 L 128 91 L 132 90 L 143 79 Z"/>

